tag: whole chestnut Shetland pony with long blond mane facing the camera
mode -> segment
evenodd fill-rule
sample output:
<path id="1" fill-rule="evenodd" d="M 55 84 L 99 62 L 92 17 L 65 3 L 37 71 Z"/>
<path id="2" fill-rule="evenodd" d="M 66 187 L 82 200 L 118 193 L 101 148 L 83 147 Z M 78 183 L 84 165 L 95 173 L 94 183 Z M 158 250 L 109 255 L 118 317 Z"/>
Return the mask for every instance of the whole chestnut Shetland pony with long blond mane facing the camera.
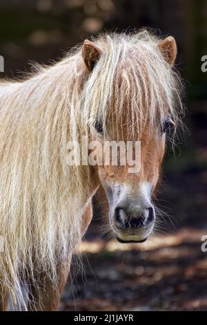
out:
<path id="1" fill-rule="evenodd" d="M 121 242 L 145 241 L 166 129 L 179 124 L 175 39 L 146 30 L 84 41 L 57 64 L 0 84 L 0 307 L 55 310 L 101 184 Z M 141 169 L 67 163 L 67 143 L 141 140 Z M 28 304 L 23 284 L 28 286 Z"/>

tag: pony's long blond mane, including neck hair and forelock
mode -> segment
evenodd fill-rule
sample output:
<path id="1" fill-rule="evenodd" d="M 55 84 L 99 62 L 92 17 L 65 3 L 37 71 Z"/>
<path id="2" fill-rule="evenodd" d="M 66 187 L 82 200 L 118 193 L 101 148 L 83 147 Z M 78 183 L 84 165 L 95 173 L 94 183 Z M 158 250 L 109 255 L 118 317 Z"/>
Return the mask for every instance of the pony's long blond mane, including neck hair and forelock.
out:
<path id="1" fill-rule="evenodd" d="M 57 266 L 81 241 L 81 215 L 95 187 L 89 166 L 67 165 L 67 142 L 128 116 L 139 136 L 166 110 L 175 122 L 181 107 L 177 73 L 167 64 L 159 38 L 101 35 L 101 56 L 90 75 L 81 46 L 52 66 L 37 66 L 23 80 L 0 84 L 0 234 L 4 239 L 0 281 L 24 304 L 21 282 L 46 270 L 57 285 Z M 113 105 L 110 101 L 113 98 Z"/>

